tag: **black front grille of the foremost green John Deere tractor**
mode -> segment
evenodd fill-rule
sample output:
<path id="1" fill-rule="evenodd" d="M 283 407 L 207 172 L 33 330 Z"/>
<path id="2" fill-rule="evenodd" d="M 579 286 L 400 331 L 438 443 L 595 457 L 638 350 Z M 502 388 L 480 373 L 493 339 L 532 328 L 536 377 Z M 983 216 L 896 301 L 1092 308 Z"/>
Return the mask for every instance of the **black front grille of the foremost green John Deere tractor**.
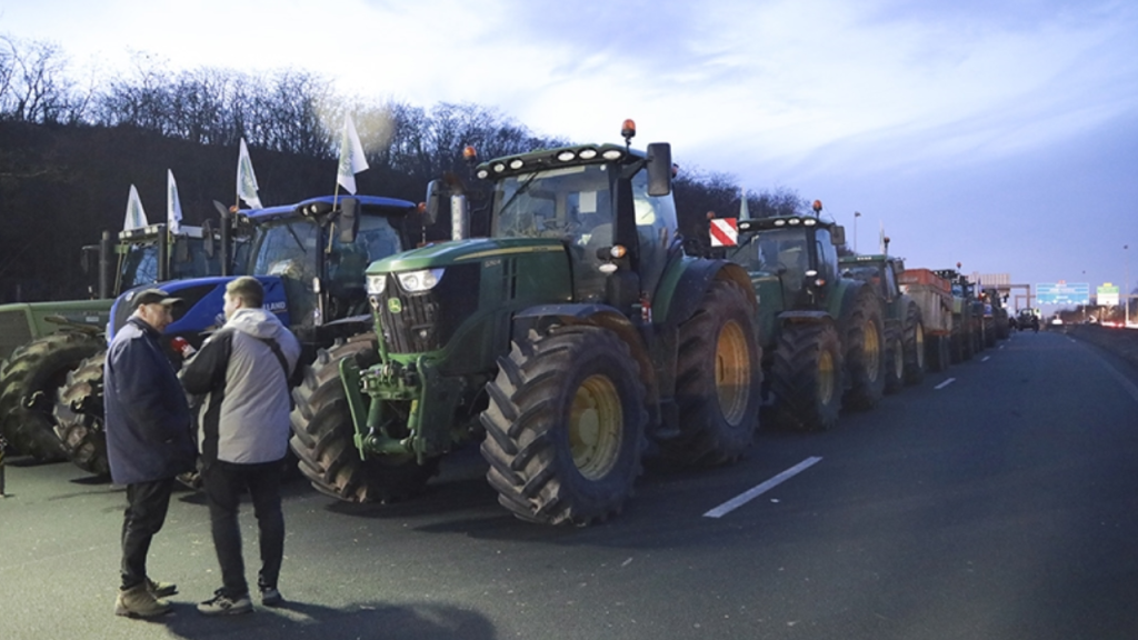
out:
<path id="1" fill-rule="evenodd" d="M 388 351 L 424 353 L 445 346 L 478 309 L 479 269 L 479 264 L 448 266 L 434 289 L 415 294 L 401 289 L 389 274 L 379 304 Z"/>

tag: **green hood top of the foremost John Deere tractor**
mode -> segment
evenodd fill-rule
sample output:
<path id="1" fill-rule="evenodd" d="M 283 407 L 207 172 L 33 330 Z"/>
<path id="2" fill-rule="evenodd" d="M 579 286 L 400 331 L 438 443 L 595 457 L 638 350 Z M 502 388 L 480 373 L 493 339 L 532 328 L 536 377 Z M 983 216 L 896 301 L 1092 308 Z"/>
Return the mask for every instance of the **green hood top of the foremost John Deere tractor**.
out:
<path id="1" fill-rule="evenodd" d="M 475 238 L 430 244 L 384 260 L 368 266 L 369 276 L 436 269 L 452 264 L 469 264 L 494 257 L 519 254 L 563 253 L 564 244 L 554 238 Z"/>

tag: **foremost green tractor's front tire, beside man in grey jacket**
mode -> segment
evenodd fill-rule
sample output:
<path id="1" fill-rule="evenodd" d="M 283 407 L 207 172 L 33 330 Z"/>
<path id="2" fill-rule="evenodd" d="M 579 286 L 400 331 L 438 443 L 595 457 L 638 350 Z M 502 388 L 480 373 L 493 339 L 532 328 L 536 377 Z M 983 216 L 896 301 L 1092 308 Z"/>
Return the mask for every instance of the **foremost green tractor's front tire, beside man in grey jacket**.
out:
<path id="1" fill-rule="evenodd" d="M 363 334 L 322 348 L 305 370 L 304 381 L 292 389 L 292 438 L 300 473 L 312 486 L 347 502 L 394 502 L 423 491 L 438 473 L 438 459 L 419 465 L 414 458 L 394 456 L 360 459 L 355 427 L 339 364 L 355 358 L 361 367 L 378 360 L 376 336 Z"/>

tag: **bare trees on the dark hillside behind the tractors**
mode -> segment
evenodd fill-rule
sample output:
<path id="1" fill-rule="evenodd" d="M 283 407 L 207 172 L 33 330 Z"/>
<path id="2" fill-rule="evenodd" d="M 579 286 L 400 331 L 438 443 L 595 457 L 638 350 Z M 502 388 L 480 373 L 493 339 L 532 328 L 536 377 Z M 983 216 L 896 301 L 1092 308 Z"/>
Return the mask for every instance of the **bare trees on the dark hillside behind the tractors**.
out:
<path id="1" fill-rule="evenodd" d="M 213 216 L 214 199 L 232 204 L 242 138 L 266 205 L 330 192 L 346 114 L 371 167 L 357 175 L 360 191 L 413 202 L 429 180 L 467 174 L 467 145 L 492 158 L 575 142 L 537 136 L 473 104 L 345 97 L 329 80 L 296 69 L 171 72 L 135 55 L 130 73 L 82 83 L 58 44 L 0 36 L 0 302 L 82 295 L 80 248 L 102 229 L 121 228 L 131 184 L 158 213 L 151 221 L 164 218 L 166 169 L 187 223 Z M 682 166 L 675 187 L 677 208 L 700 212 L 693 220 L 739 211 L 729 174 Z M 469 188 L 478 197 L 488 186 Z M 787 188 L 747 197 L 753 216 L 806 210 Z"/>

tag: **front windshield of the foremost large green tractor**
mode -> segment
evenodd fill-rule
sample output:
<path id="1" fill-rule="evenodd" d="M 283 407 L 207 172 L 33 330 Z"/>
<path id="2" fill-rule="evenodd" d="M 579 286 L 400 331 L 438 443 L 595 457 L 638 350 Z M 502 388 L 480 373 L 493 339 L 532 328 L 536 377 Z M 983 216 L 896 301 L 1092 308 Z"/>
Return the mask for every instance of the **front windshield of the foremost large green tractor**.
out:
<path id="1" fill-rule="evenodd" d="M 569 166 L 504 178 L 494 189 L 495 238 L 560 238 L 612 244 L 608 165 Z"/>

